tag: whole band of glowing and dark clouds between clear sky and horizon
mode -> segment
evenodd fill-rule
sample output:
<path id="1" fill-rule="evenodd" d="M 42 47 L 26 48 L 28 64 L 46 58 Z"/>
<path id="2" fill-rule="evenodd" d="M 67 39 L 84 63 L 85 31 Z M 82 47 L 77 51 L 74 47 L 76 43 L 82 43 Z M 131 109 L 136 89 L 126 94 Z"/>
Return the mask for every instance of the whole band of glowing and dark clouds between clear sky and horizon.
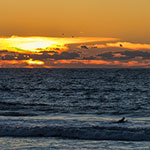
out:
<path id="1" fill-rule="evenodd" d="M 118 68 L 150 66 L 150 44 L 116 38 L 0 38 L 0 67 Z"/>

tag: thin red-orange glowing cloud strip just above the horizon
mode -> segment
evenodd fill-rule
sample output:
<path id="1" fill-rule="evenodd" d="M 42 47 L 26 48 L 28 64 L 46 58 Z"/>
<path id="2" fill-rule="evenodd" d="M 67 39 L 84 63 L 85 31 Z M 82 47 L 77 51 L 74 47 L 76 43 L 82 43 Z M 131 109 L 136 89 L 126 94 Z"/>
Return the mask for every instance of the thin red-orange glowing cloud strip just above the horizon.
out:
<path id="1" fill-rule="evenodd" d="M 150 60 L 131 60 L 128 62 L 121 61 L 103 61 L 103 60 L 56 60 L 42 63 L 42 61 L 34 61 L 34 60 L 0 60 L 1 68 L 56 68 L 60 65 L 78 66 L 82 64 L 82 67 L 88 65 L 100 65 L 100 67 L 119 67 L 119 68 L 132 68 L 132 67 L 140 67 L 140 68 L 150 68 Z M 67 66 L 66 66 L 67 67 Z M 79 67 L 79 66 L 78 66 Z"/>

